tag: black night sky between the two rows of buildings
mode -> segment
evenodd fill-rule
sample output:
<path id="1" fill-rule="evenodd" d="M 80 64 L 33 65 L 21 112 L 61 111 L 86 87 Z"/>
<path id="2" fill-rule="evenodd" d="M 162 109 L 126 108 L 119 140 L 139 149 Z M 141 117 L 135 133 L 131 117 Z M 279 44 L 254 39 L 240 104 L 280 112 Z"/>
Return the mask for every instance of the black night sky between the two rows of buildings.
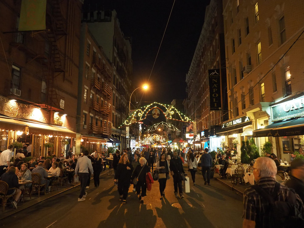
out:
<path id="1" fill-rule="evenodd" d="M 92 1 L 91 1 L 92 2 Z M 94 2 L 94 1 L 93 1 Z M 98 0 L 98 7 L 115 9 L 120 28 L 132 37 L 133 88 L 147 82 L 174 0 Z M 176 0 L 142 102 L 170 104 L 186 98 L 186 74 L 210 0 Z M 94 3 L 93 3 L 94 4 Z M 136 92 L 140 99 L 142 91 Z"/>

